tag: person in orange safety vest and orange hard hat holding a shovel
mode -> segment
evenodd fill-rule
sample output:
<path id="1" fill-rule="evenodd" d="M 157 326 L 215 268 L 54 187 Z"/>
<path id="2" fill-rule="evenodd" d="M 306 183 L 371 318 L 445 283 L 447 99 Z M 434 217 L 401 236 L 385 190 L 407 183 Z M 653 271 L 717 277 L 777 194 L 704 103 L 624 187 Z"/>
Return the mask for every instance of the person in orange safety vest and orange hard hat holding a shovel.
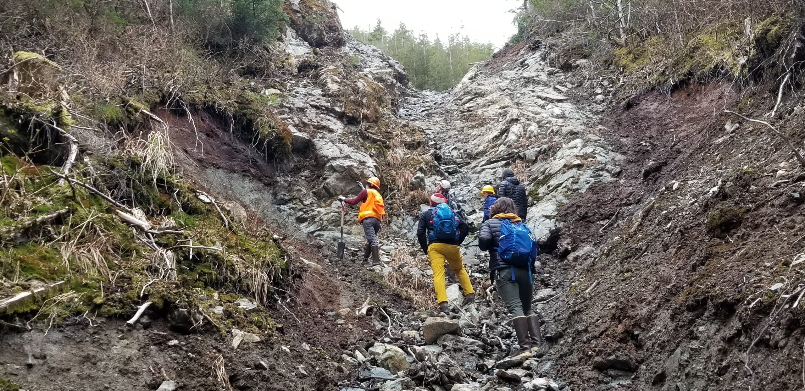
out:
<path id="1" fill-rule="evenodd" d="M 380 179 L 371 177 L 366 179 L 366 187 L 361 190 L 355 198 L 338 197 L 338 200 L 350 205 L 361 204 L 357 212 L 357 221 L 363 226 L 363 233 L 366 235 L 366 247 L 363 253 L 363 263 L 369 263 L 369 254 L 372 255 L 371 266 L 380 265 L 380 247 L 378 245 L 378 233 L 380 232 L 380 222 L 386 214 L 383 204 L 383 196 L 380 195 Z"/>

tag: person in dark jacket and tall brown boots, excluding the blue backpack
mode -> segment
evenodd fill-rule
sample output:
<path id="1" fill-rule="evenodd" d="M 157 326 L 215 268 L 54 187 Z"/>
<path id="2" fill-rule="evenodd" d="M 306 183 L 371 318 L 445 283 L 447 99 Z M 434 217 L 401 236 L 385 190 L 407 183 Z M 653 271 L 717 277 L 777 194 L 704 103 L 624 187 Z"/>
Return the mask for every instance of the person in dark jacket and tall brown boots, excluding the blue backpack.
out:
<path id="1" fill-rule="evenodd" d="M 514 201 L 510 198 L 500 197 L 492 206 L 492 218 L 481 224 L 478 233 L 478 247 L 481 251 L 489 251 L 490 278 L 497 286 L 514 323 L 514 332 L 517 334 L 520 348 L 514 351 L 512 357 L 530 357 L 542 345 L 542 335 L 539 331 L 539 316 L 531 308 L 531 294 L 533 292 L 533 279 L 531 272 L 534 265 L 517 267 L 503 261 L 497 254 L 497 246 L 501 237 L 501 224 L 503 220 L 512 222 L 521 221 L 517 216 Z"/>

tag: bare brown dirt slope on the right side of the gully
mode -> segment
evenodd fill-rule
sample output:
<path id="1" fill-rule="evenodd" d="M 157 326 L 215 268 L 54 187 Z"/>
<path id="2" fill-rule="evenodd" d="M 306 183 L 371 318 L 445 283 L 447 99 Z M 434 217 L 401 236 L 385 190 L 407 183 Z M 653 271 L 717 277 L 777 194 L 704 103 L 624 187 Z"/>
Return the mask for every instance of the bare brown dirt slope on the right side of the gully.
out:
<path id="1" fill-rule="evenodd" d="M 564 206 L 559 253 L 573 253 L 549 266 L 576 285 L 548 325 L 571 342 L 552 353 L 574 390 L 802 386 L 803 312 L 791 307 L 805 170 L 774 134 L 723 113 L 762 117 L 773 104 L 695 85 L 605 121 L 624 174 Z M 802 146 L 805 117 L 785 116 Z"/>

